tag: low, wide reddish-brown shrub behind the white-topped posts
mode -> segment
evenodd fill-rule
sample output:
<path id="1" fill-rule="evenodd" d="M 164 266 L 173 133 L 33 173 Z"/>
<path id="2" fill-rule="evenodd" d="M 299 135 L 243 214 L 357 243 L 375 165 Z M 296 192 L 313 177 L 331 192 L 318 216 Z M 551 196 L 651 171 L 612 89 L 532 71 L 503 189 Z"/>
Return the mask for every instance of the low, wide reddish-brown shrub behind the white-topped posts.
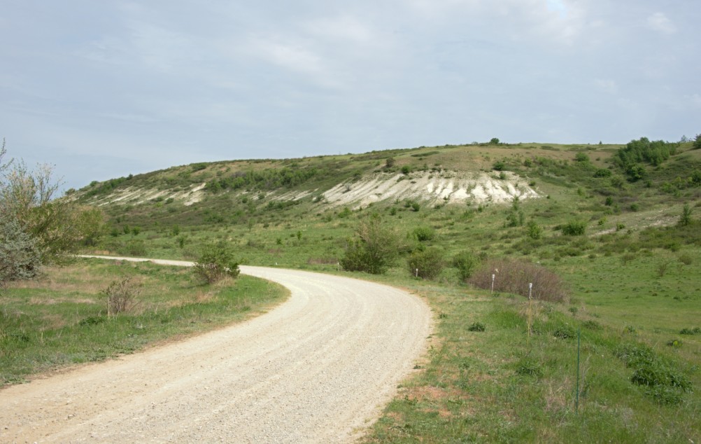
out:
<path id="1" fill-rule="evenodd" d="M 489 290 L 494 274 L 494 291 L 515 293 L 528 297 L 533 284 L 533 299 L 562 302 L 569 295 L 562 279 L 554 272 L 522 260 L 496 259 L 484 262 L 468 281 L 477 288 Z"/>

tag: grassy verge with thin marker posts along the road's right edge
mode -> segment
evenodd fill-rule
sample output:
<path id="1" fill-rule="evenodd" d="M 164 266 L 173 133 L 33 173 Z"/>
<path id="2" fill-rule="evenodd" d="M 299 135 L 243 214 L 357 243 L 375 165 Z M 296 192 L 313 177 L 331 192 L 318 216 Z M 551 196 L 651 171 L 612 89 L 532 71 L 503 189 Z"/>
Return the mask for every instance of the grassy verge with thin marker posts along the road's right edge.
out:
<path id="1" fill-rule="evenodd" d="M 410 289 L 437 312 L 428 361 L 400 386 L 363 443 L 679 443 L 701 437 L 698 347 L 690 360 L 665 344 L 651 347 L 696 389 L 667 393 L 633 384 L 634 369 L 616 356 L 621 347 L 645 343 L 641 337 L 574 317 L 562 304 L 536 302 L 529 336 L 522 297 L 423 283 Z M 475 324 L 484 331 L 471 328 Z M 650 393 L 655 389 L 662 396 Z"/>

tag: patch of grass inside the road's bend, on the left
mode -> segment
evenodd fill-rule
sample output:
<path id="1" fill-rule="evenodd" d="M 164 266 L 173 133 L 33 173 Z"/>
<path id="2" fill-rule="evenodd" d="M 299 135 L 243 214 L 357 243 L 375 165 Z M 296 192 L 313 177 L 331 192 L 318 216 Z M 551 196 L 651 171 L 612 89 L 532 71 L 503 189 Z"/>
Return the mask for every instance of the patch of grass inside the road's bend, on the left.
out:
<path id="1" fill-rule="evenodd" d="M 102 290 L 124 276 L 140 290 L 137 305 L 108 317 Z M 0 299 L 0 382 L 23 382 L 243 321 L 286 294 L 280 285 L 250 276 L 203 285 L 181 267 L 76 260 L 46 270 L 39 280 L 14 283 Z"/>

